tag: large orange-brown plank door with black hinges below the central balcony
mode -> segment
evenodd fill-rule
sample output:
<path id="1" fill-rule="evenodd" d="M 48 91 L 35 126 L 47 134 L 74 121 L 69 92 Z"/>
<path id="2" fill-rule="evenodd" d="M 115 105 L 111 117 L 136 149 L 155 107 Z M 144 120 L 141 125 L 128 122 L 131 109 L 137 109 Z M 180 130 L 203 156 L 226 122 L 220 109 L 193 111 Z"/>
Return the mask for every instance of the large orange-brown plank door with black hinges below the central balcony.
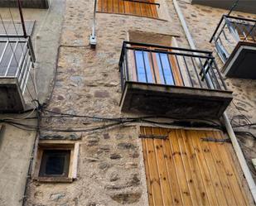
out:
<path id="1" fill-rule="evenodd" d="M 229 143 L 201 140 L 222 132 L 141 127 L 141 134 L 150 206 L 249 205 Z"/>

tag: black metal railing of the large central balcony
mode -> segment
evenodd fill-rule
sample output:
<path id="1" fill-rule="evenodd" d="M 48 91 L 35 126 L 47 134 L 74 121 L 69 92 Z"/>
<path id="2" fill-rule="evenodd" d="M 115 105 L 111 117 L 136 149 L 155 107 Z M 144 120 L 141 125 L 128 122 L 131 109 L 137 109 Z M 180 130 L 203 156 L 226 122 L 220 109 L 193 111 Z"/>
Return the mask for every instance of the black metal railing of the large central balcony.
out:
<path id="1" fill-rule="evenodd" d="M 212 52 L 123 42 L 119 60 L 121 85 L 138 82 L 226 90 Z"/>

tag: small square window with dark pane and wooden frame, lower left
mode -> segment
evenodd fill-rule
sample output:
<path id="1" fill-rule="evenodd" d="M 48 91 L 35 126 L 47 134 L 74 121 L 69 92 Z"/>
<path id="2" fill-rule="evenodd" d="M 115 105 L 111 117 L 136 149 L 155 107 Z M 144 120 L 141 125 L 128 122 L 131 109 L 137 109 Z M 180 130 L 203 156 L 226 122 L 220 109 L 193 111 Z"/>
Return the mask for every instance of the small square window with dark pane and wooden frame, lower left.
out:
<path id="1" fill-rule="evenodd" d="M 79 143 L 40 141 L 34 179 L 42 182 L 72 182 L 76 178 Z"/>

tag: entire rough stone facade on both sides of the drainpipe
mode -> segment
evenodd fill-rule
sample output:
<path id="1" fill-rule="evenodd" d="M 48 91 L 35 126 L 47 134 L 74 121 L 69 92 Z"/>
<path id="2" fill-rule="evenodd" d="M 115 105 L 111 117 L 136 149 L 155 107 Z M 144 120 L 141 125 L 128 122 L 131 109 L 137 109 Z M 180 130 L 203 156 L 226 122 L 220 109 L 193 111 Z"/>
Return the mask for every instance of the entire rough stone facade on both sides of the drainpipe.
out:
<path id="1" fill-rule="evenodd" d="M 50 70 L 51 77 L 43 77 L 40 83 L 43 85 L 44 80 L 47 79 L 47 88 L 42 87 L 39 90 L 45 96 L 51 90 L 50 85 L 54 85 L 47 109 L 56 113 L 95 117 L 138 117 L 138 114 L 121 113 L 119 108 L 122 92 L 118 61 L 123 41 L 129 40 L 129 32 L 143 31 L 176 36 L 178 46 L 189 48 L 172 1 L 159 2 L 161 19 L 98 12 L 96 14 L 98 44 L 96 49 L 92 50 L 89 46 L 89 35 L 94 1 L 66 0 L 65 16 L 60 32 L 56 82 L 51 84 L 49 79 L 53 79 L 53 73 Z M 188 1 L 178 2 L 198 49 L 214 50 L 214 46 L 209 43 L 210 36 L 221 15 L 227 11 L 191 5 Z M 64 5 L 64 1 L 60 3 Z M 241 12 L 234 14 L 255 17 Z M 50 54 L 47 56 L 51 58 Z M 219 57 L 216 54 L 215 57 L 221 67 Z M 40 70 L 43 74 L 42 68 Z M 237 118 L 242 113 L 249 117 L 251 122 L 255 122 L 256 82 L 244 79 L 225 79 L 225 81 L 229 89 L 234 91 L 234 103 L 237 105 L 237 107 L 234 107 L 234 104 L 230 105 L 228 109 L 230 119 Z M 46 98 L 41 98 L 41 102 L 47 102 Z M 96 118 L 46 117 L 41 119 L 40 125 L 89 128 L 100 126 L 102 123 Z M 41 183 L 31 179 L 27 185 L 26 205 L 148 205 L 142 146 L 138 138 L 140 125 L 142 124 L 134 123 L 96 132 L 41 132 L 40 140 L 80 142 L 77 178 L 72 183 L 61 184 Z M 254 130 L 250 132 L 256 135 Z M 239 141 L 249 165 L 252 165 L 250 159 L 255 158 L 256 155 L 255 141 L 247 136 L 239 137 Z M 252 173 L 255 173 L 253 167 Z M 11 204 L 2 204 L 0 199 L 0 205 Z"/>

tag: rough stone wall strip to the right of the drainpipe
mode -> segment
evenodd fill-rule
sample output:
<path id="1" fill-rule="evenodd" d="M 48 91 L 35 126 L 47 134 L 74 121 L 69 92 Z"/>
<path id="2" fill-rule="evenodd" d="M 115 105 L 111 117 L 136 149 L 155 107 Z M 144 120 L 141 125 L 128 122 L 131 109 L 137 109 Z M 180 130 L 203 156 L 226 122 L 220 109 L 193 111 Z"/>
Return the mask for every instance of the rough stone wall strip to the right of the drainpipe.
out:
<path id="1" fill-rule="evenodd" d="M 197 48 L 215 51 L 214 44 L 209 42 L 210 37 L 215 31 L 218 22 L 220 22 L 222 15 L 227 14 L 229 11 L 200 5 L 191 5 L 189 2 L 184 1 L 179 1 L 179 3 Z M 244 12 L 232 12 L 232 16 L 250 19 L 256 18 L 256 15 Z M 216 52 L 214 55 L 221 69 L 223 63 Z M 239 121 L 241 115 L 248 117 L 250 122 L 256 122 L 256 81 L 254 79 L 225 78 L 225 83 L 228 85 L 228 88 L 234 92 L 234 100 L 228 108 L 229 119 L 231 121 L 233 119 L 233 125 L 235 125 L 235 122 L 239 124 L 246 123 L 244 120 Z M 254 130 L 253 127 L 238 127 L 234 130 L 252 132 L 254 136 L 256 135 L 256 130 Z M 237 137 L 239 137 L 240 146 L 243 148 L 244 155 L 254 175 L 254 180 L 256 180 L 256 172 L 251 161 L 252 158 L 256 157 L 256 140 L 244 134 L 238 135 Z"/>

